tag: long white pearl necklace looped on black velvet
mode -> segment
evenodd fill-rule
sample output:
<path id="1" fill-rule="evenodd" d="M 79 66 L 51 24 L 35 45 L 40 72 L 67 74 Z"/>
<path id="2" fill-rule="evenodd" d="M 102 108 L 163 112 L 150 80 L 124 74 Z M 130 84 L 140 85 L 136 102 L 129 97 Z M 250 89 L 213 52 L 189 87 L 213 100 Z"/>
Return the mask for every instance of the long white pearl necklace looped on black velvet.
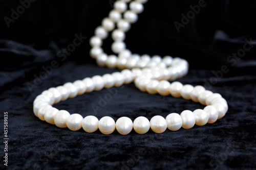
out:
<path id="1" fill-rule="evenodd" d="M 226 114 L 228 105 L 221 94 L 206 90 L 203 86 L 193 87 L 188 84 L 182 85 L 177 81 L 173 83 L 167 81 L 174 81 L 187 74 L 188 63 L 186 60 L 170 56 L 165 56 L 163 59 L 160 56 L 153 56 L 152 58 L 148 55 L 139 56 L 126 49 L 123 42 L 125 32 L 131 28 L 131 23 L 138 20 L 137 14 L 143 11 L 143 4 L 146 2 L 147 0 L 116 1 L 109 17 L 102 20 L 102 26 L 95 29 L 95 36 L 90 39 L 92 46 L 90 55 L 96 59 L 97 64 L 109 68 L 117 67 L 122 71 L 105 74 L 102 77 L 97 75 L 73 83 L 68 82 L 63 86 L 52 87 L 43 91 L 33 102 L 35 116 L 59 128 L 68 127 L 72 131 L 83 128 L 84 131 L 92 133 L 99 129 L 103 134 L 111 134 L 117 129 L 120 134 L 126 135 L 132 129 L 139 134 L 146 133 L 150 128 L 156 133 L 162 133 L 167 128 L 171 131 L 177 131 L 181 127 L 190 129 L 195 124 L 203 126 L 206 123 L 215 123 L 217 119 Z M 130 10 L 127 10 L 127 3 L 130 3 Z M 111 31 L 113 31 L 112 39 L 114 40 L 111 48 L 114 53 L 118 54 L 118 57 L 106 55 L 101 48 L 102 41 L 108 37 Z M 131 82 L 134 82 L 141 91 L 150 94 L 159 93 L 163 96 L 170 94 L 174 98 L 182 97 L 185 100 L 200 102 L 207 106 L 193 112 L 185 110 L 181 114 L 170 113 L 166 118 L 156 115 L 150 121 L 146 117 L 139 116 L 134 122 L 129 117 L 120 117 L 116 122 L 109 116 L 104 116 L 100 120 L 93 115 L 83 118 L 80 114 L 70 114 L 66 110 L 52 107 L 53 104 L 68 98 L 75 98 L 75 96 L 85 92 L 98 91 L 103 87 L 111 88 Z"/>

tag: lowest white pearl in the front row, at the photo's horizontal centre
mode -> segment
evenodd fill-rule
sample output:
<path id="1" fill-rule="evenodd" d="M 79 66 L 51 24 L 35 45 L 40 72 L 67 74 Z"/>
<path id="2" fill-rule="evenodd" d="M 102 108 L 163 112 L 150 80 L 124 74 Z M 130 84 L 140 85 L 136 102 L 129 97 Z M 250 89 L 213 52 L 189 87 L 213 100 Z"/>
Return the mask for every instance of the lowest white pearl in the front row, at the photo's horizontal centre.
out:
<path id="1" fill-rule="evenodd" d="M 133 121 L 129 117 L 120 117 L 116 120 L 116 130 L 121 135 L 127 135 L 133 130 Z"/>

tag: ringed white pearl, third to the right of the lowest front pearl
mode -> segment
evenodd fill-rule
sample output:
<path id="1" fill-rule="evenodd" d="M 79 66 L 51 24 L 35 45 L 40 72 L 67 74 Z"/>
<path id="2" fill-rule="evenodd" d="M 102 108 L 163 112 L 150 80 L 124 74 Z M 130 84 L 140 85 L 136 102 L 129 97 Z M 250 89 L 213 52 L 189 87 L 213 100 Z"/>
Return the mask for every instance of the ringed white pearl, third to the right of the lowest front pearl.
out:
<path id="1" fill-rule="evenodd" d="M 177 131 L 182 127 L 182 119 L 178 113 L 170 113 L 166 116 L 167 128 L 171 131 Z"/>

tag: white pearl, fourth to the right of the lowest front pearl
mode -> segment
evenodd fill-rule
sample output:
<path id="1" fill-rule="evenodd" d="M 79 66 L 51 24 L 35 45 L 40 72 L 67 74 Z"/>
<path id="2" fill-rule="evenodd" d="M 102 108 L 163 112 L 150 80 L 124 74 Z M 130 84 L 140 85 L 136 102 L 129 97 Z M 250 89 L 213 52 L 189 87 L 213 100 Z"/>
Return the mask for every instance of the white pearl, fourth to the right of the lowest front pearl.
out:
<path id="1" fill-rule="evenodd" d="M 193 128 L 196 123 L 196 117 L 190 110 L 184 110 L 180 114 L 182 119 L 182 128 L 190 129 Z"/>

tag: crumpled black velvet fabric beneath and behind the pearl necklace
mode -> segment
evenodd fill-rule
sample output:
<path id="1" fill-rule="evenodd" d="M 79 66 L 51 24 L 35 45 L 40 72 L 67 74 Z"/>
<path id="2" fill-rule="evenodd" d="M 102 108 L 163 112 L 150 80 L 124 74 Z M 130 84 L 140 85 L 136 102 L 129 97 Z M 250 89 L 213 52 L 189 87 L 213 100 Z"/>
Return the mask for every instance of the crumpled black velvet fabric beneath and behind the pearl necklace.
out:
<path id="1" fill-rule="evenodd" d="M 23 2 L 30 5 L 12 17 Z M 203 85 L 220 93 L 228 112 L 214 124 L 161 134 L 152 130 L 103 135 L 97 130 L 60 129 L 39 120 L 33 101 L 42 91 L 86 77 L 118 71 L 98 67 L 89 56 L 89 39 L 115 1 L 3 1 L 1 11 L 0 125 L 1 169 L 255 169 L 255 5 L 252 1 L 205 1 L 200 12 L 182 23 L 202 1 L 149 1 L 126 34 L 138 54 L 181 57 L 189 62 L 183 84 Z M 10 21 L 10 20 L 9 20 Z M 177 23 L 176 22 L 176 23 Z M 8 27 L 9 25 L 9 27 Z M 80 37 L 80 38 L 77 38 Z M 63 51 L 74 39 L 79 45 Z M 79 41 L 76 41 L 78 43 Z M 111 54 L 111 39 L 104 51 Z M 243 53 L 244 52 L 244 53 Z M 106 100 L 102 100 L 106 99 Z M 79 95 L 54 105 L 83 117 L 154 115 L 202 109 L 199 103 L 151 95 L 123 85 Z M 4 115 L 8 112 L 8 152 L 4 151 Z M 3 158 L 8 153 L 8 166 Z"/>

